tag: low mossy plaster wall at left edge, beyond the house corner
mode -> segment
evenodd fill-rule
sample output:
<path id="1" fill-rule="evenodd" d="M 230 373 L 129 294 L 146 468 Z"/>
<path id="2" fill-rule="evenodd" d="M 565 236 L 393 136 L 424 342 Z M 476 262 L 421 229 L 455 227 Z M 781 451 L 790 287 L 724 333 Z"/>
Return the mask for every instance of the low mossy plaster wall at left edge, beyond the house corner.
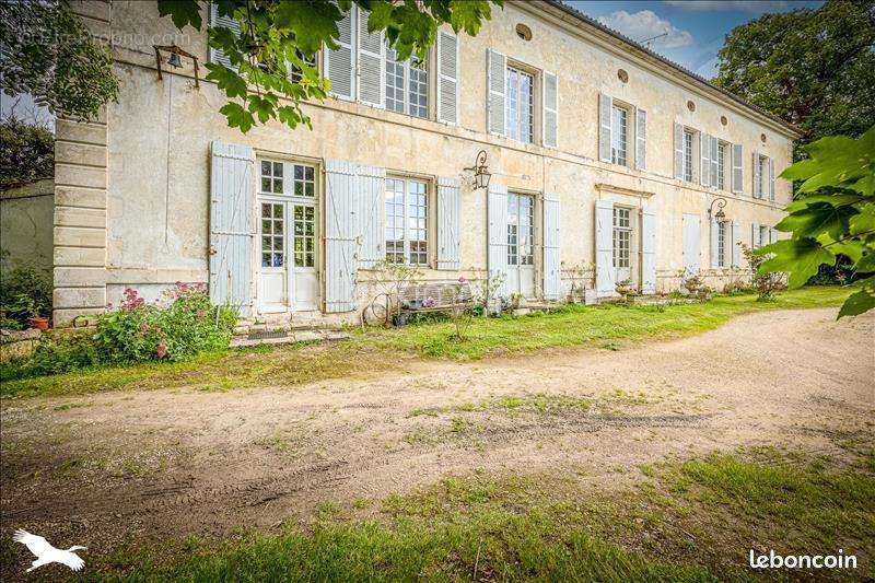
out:
<path id="1" fill-rule="evenodd" d="M 12 265 L 51 269 L 55 183 L 39 180 L 0 191 L 0 249 Z"/>

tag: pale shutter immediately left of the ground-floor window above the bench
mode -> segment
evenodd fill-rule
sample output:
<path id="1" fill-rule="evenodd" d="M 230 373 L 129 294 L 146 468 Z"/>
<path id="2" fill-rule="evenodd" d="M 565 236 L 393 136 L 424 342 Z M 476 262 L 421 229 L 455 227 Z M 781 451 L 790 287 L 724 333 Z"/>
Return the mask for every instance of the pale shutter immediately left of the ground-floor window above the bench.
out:
<path id="1" fill-rule="evenodd" d="M 386 170 L 360 165 L 355 168 L 355 233 L 359 249 L 358 267 L 373 269 L 386 258 L 384 200 L 386 196 Z"/>

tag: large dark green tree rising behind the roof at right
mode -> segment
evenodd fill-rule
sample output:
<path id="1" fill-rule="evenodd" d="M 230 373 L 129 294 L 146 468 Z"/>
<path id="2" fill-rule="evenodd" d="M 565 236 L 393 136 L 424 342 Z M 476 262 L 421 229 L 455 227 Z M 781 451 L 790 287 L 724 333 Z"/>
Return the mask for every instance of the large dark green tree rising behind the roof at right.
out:
<path id="1" fill-rule="evenodd" d="M 875 0 L 827 0 L 734 28 L 714 82 L 798 126 L 798 145 L 858 137 L 875 124 L 874 47 Z"/>

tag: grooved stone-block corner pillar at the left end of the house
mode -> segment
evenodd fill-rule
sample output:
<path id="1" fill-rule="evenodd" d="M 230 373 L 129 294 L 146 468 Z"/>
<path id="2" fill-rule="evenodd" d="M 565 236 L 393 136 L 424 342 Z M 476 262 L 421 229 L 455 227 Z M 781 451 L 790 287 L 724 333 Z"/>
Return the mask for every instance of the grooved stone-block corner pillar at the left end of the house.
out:
<path id="1" fill-rule="evenodd" d="M 71 2 L 96 37 L 109 39 L 110 5 Z M 94 119 L 55 126 L 55 326 L 106 307 L 106 108 Z"/>

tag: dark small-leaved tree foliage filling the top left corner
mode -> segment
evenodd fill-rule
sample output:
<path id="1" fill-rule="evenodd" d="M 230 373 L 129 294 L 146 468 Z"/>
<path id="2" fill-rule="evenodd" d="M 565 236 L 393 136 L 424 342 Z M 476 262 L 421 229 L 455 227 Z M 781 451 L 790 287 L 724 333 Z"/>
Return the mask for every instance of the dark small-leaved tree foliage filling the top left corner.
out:
<path id="1" fill-rule="evenodd" d="M 0 88 L 30 93 L 52 114 L 92 117 L 118 96 L 109 49 L 95 40 L 66 1 L 0 2 Z"/>

